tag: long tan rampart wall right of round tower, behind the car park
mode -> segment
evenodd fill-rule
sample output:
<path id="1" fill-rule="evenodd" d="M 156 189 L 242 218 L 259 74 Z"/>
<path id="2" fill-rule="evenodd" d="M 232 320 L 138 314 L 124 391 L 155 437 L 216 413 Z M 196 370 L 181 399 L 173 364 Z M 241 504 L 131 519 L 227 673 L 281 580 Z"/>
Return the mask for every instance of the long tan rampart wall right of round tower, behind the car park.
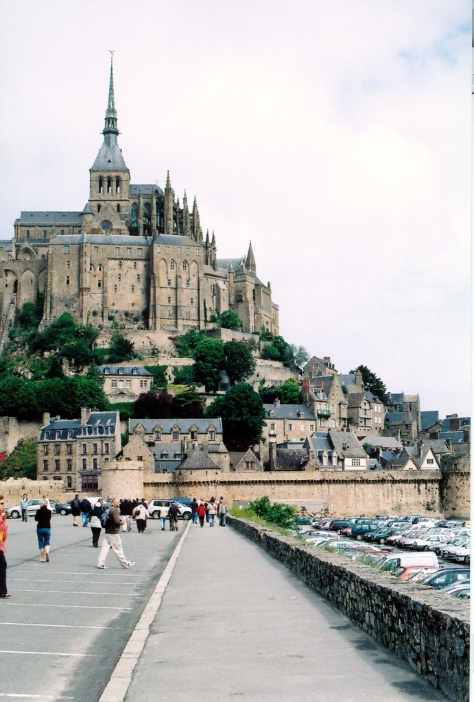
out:
<path id="1" fill-rule="evenodd" d="M 224 495 L 228 505 L 246 503 L 265 495 L 273 501 L 317 503 L 329 515 L 367 517 L 381 514 L 429 514 L 433 517 L 467 518 L 469 475 L 422 472 L 246 472 L 178 470 L 147 480 L 145 497 L 194 497 Z M 171 492 L 170 492 L 171 491 Z M 172 493 L 172 494 L 171 494 Z"/>

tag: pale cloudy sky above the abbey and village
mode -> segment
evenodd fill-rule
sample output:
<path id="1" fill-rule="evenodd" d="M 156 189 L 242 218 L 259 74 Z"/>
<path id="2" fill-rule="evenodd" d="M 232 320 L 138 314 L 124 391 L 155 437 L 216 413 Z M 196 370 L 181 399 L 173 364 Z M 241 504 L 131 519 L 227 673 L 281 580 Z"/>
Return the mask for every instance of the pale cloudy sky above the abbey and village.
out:
<path id="1" fill-rule="evenodd" d="M 0 0 L 0 239 L 81 211 L 114 50 L 132 183 L 197 199 L 280 333 L 470 416 L 468 0 Z"/>

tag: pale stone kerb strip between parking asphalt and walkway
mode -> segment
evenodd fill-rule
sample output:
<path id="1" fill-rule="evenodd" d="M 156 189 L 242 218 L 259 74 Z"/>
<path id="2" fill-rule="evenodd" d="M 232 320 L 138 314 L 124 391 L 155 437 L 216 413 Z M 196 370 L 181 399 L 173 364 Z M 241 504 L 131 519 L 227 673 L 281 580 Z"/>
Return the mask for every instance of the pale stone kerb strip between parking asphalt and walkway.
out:
<path id="1" fill-rule="evenodd" d="M 176 565 L 176 560 L 178 559 L 181 548 L 183 548 L 183 543 L 187 536 L 187 532 L 190 530 L 190 526 L 191 522 L 188 522 L 184 534 L 178 541 L 178 545 L 173 551 L 173 555 L 169 559 L 161 578 L 159 578 L 157 586 L 154 588 L 154 592 L 150 597 L 150 600 L 148 600 L 147 606 L 143 610 L 143 614 L 140 616 L 140 619 L 126 644 L 126 647 L 124 648 L 123 654 L 120 656 L 119 662 L 115 666 L 115 670 L 112 673 L 99 702 L 124 701 L 126 691 L 129 689 L 129 685 L 131 683 L 133 670 L 135 669 L 135 666 L 138 663 L 138 658 L 140 658 L 145 647 L 146 640 L 150 634 L 150 626 L 153 623 L 160 604 L 162 604 L 164 591 L 166 590 L 166 586 L 170 581 L 171 574 L 173 573 L 173 569 Z"/>

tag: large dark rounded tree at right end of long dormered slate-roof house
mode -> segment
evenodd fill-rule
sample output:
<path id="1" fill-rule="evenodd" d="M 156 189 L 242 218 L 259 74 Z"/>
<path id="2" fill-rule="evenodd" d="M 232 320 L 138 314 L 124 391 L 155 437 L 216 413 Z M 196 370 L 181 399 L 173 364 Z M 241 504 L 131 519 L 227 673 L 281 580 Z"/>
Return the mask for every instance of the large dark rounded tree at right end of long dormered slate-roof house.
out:
<path id="1" fill-rule="evenodd" d="M 265 410 L 260 395 L 246 383 L 216 397 L 204 416 L 222 418 L 224 443 L 232 451 L 246 451 L 261 439 Z"/>

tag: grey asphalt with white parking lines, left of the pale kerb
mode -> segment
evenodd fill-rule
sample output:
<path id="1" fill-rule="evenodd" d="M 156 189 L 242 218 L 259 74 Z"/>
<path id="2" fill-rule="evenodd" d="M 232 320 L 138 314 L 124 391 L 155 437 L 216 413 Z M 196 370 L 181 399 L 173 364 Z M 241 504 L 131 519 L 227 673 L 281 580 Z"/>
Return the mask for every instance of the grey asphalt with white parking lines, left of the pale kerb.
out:
<path id="1" fill-rule="evenodd" d="M 0 701 L 96 702 L 169 562 L 181 531 L 121 534 L 125 570 L 113 552 L 97 569 L 91 530 L 53 515 L 51 561 L 39 562 L 36 522 L 8 519 L 7 585 L 0 600 Z M 100 543 L 102 543 L 102 538 Z"/>

